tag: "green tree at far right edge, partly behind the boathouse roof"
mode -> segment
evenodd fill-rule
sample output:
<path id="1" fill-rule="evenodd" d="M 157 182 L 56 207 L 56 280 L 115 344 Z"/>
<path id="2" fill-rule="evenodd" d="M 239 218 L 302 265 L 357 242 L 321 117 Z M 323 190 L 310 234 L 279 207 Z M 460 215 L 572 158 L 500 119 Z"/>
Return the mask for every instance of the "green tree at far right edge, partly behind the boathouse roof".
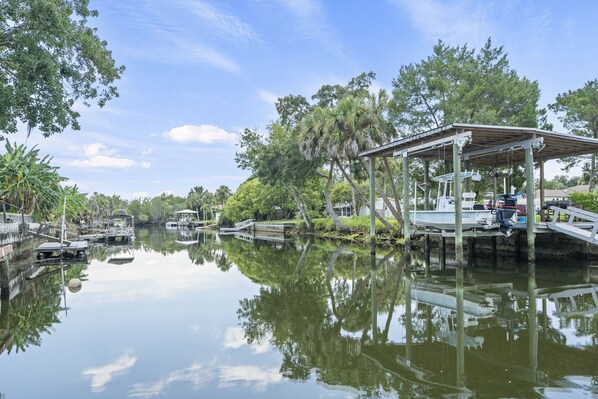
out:
<path id="1" fill-rule="evenodd" d="M 551 111 L 563 113 L 559 120 L 566 129 L 578 136 L 598 138 L 598 79 L 586 82 L 577 90 L 569 90 L 557 96 L 556 102 L 548 105 Z M 567 160 L 566 168 L 586 160 L 573 158 Z M 596 155 L 590 156 L 590 190 L 596 186 Z"/>

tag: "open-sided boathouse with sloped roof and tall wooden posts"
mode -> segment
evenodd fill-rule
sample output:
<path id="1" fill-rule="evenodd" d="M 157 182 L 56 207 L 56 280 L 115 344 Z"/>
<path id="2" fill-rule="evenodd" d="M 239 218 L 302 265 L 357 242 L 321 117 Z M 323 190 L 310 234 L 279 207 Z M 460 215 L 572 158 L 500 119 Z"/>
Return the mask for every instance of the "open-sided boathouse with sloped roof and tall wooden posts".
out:
<path id="1" fill-rule="evenodd" d="M 462 166 L 475 168 L 486 166 L 493 168 L 494 176 L 494 202 L 498 182 L 496 179 L 497 168 L 505 166 L 525 167 L 526 208 L 535 209 L 535 165 L 539 168 L 539 194 L 540 203 L 545 203 L 544 198 L 544 163 L 548 160 L 560 159 L 570 156 L 598 153 L 598 140 L 575 136 L 572 134 L 556 133 L 535 128 L 489 126 L 476 124 L 453 123 L 423 133 L 414 134 L 391 143 L 372 148 L 360 154 L 369 160 L 370 175 L 370 201 L 375 203 L 375 175 L 374 160 L 379 157 L 401 158 L 403 163 L 403 203 L 410 204 L 410 166 L 409 158 L 418 158 L 424 168 L 424 187 L 426 187 L 425 203 L 429 203 L 430 191 L 430 162 L 443 161 L 452 165 L 455 176 L 461 176 Z M 459 178 L 454 179 L 454 231 L 451 232 L 455 239 L 456 262 L 463 262 L 463 187 Z M 403 209 L 403 233 L 406 240 L 411 237 L 411 223 L 409 207 Z M 598 230 L 598 215 L 579 211 L 572 208 L 568 212 L 570 221 L 583 219 L 585 228 L 580 228 L 573 223 L 544 223 L 553 231 L 558 231 L 570 236 L 583 239 L 593 244 L 598 244 L 596 232 Z M 558 216 L 558 212 L 555 213 Z M 530 216 L 533 215 L 530 212 Z M 542 220 L 541 222 L 546 222 Z M 375 236 L 375 216 L 370 215 L 370 237 L 373 242 Z M 527 233 L 528 259 L 535 261 L 535 235 L 538 223 L 535 217 L 528 217 L 522 228 Z M 589 228 L 588 228 L 589 227 Z"/>

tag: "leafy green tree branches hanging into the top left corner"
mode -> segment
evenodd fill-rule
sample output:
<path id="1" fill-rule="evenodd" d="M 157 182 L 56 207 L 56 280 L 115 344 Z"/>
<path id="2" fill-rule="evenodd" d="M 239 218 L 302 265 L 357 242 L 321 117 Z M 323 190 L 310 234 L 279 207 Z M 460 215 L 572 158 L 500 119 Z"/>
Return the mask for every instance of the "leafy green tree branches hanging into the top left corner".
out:
<path id="1" fill-rule="evenodd" d="M 44 136 L 80 129 L 75 103 L 118 96 L 117 67 L 89 26 L 88 0 L 3 1 L 0 6 L 0 132 L 18 122 Z"/>

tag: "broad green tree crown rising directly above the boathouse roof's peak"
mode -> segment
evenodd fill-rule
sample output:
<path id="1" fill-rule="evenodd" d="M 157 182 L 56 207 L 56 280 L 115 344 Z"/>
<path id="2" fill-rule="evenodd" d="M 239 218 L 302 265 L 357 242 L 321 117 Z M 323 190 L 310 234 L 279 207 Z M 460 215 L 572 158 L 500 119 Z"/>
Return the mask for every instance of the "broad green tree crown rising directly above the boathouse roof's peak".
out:
<path id="1" fill-rule="evenodd" d="M 502 47 L 479 51 L 439 41 L 433 54 L 393 79 L 390 119 L 402 135 L 449 123 L 546 128 L 536 81 L 519 77 Z"/>

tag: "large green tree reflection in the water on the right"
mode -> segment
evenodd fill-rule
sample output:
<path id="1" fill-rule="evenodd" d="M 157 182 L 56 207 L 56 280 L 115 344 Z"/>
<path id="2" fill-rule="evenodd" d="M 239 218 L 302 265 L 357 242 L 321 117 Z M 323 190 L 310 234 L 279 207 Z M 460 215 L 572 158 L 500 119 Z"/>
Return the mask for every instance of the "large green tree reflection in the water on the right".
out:
<path id="1" fill-rule="evenodd" d="M 566 346 L 547 311 L 536 312 L 536 301 L 546 299 L 527 290 L 528 284 L 536 287 L 534 274 L 495 284 L 477 280 L 472 269 L 455 280 L 454 270 L 430 268 L 429 260 L 399 252 L 378 256 L 371 267 L 367 250 L 346 245 L 226 241 L 223 246 L 231 262 L 262 286 L 240 303 L 246 339 L 269 340 L 281 352 L 280 370 L 289 379 L 306 380 L 315 372 L 322 383 L 352 387 L 364 397 L 473 397 L 527 396 L 549 381 L 597 374 L 595 338 L 587 348 Z M 466 306 L 458 334 L 451 307 L 456 302 L 447 308 L 418 301 L 410 295 L 412 281 L 453 296 L 460 281 L 465 301 L 483 294 L 492 312 L 475 316 Z M 544 320 L 540 335 L 537 314 Z M 596 314 L 577 319 L 595 336 Z"/>

